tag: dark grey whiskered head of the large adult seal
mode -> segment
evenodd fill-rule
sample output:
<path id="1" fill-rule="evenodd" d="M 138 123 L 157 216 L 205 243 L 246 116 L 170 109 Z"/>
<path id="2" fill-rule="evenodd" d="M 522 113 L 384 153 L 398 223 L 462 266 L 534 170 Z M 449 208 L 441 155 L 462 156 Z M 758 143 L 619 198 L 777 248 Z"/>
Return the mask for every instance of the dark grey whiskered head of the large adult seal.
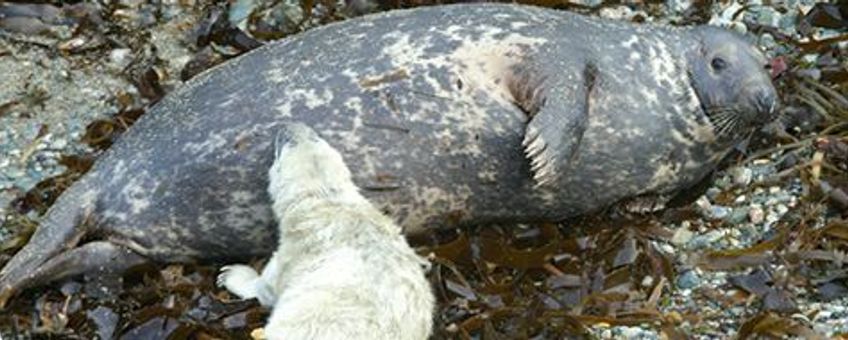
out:
<path id="1" fill-rule="evenodd" d="M 719 138 L 738 140 L 777 118 L 777 91 L 767 60 L 741 35 L 712 26 L 693 29 L 689 79 Z"/>

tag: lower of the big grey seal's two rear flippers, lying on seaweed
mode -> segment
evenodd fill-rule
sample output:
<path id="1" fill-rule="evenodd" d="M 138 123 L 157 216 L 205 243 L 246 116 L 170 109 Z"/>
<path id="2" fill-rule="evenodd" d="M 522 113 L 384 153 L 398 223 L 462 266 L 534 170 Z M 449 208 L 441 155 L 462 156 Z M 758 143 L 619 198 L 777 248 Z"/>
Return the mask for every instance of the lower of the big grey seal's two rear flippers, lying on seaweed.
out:
<path id="1" fill-rule="evenodd" d="M 61 280 L 83 273 L 89 274 L 120 274 L 134 266 L 141 265 L 146 259 L 129 248 L 109 241 L 94 241 L 73 248 L 52 257 L 33 272 L 22 277 L 3 277 L 14 282 L 11 289 L 0 292 L 0 306 L 12 297 L 15 292 Z"/>

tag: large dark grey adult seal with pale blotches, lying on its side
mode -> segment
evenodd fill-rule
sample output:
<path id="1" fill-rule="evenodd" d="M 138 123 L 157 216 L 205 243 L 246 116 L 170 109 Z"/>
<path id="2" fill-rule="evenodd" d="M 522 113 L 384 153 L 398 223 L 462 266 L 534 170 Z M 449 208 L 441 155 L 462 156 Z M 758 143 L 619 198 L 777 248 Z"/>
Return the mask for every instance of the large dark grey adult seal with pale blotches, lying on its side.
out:
<path id="1" fill-rule="evenodd" d="M 659 207 L 773 118 L 765 64 L 718 28 L 519 5 L 313 29 L 162 99 L 0 271 L 0 303 L 147 259 L 267 256 L 275 228 L 263 169 L 287 120 L 320 131 L 408 233 L 555 221 L 646 197 Z"/>

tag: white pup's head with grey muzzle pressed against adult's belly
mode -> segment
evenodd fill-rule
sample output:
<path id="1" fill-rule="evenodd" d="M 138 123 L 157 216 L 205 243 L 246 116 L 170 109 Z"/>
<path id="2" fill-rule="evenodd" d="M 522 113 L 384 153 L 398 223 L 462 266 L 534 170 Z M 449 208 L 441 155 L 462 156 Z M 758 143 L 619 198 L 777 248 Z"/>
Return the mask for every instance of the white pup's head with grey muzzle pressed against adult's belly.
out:
<path id="1" fill-rule="evenodd" d="M 308 198 L 358 195 L 342 155 L 310 127 L 285 123 L 275 139 L 268 193 L 275 211 Z"/>

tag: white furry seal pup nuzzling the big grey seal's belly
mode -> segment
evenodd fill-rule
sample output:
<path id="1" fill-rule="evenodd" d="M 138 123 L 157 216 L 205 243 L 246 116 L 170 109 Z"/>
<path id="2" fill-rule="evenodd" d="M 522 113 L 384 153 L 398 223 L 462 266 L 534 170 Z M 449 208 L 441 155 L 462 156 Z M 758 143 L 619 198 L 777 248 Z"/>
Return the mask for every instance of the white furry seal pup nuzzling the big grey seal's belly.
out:
<path id="1" fill-rule="evenodd" d="M 359 193 L 338 151 L 305 125 L 283 130 L 268 186 L 279 247 L 261 276 L 226 266 L 219 285 L 274 306 L 269 339 L 428 338 L 426 261 Z"/>

